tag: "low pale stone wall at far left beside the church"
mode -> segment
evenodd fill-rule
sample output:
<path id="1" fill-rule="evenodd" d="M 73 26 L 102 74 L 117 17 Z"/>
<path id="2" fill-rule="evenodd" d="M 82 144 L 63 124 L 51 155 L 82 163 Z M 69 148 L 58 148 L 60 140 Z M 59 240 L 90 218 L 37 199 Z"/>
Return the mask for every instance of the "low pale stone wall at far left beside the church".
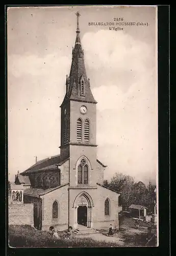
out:
<path id="1" fill-rule="evenodd" d="M 9 225 L 34 226 L 33 204 L 10 204 Z"/>

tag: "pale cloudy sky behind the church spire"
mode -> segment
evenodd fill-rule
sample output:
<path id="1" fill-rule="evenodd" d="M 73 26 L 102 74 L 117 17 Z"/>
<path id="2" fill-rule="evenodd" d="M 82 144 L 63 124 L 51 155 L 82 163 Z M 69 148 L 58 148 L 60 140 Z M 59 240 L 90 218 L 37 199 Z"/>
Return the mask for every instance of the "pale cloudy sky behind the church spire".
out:
<path id="1" fill-rule="evenodd" d="M 60 154 L 60 104 L 80 38 L 97 112 L 97 158 L 136 181 L 156 182 L 158 83 L 155 7 L 10 7 L 8 54 L 9 180 L 38 160 Z M 89 26 L 94 22 L 148 26 Z M 116 23 L 116 22 L 115 22 Z M 111 26 L 116 27 L 116 26 Z M 122 26 L 117 26 L 122 27 Z"/>

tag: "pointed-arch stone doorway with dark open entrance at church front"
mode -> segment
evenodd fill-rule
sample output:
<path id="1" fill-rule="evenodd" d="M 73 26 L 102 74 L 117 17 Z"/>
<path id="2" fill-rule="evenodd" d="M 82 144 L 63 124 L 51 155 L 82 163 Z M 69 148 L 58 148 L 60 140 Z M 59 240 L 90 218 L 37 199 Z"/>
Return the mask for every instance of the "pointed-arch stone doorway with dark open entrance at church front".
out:
<path id="1" fill-rule="evenodd" d="M 93 201 L 90 195 L 83 191 L 74 200 L 73 207 L 75 209 L 75 222 L 77 225 L 92 227 L 92 208 Z"/>

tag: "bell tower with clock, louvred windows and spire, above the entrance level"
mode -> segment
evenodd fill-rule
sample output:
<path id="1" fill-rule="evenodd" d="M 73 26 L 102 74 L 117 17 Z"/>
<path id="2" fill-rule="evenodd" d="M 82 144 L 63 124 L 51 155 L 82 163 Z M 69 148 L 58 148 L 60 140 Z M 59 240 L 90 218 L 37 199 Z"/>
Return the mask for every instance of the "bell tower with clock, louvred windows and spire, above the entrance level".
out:
<path id="1" fill-rule="evenodd" d="M 77 12 L 76 41 L 72 48 L 69 76 L 66 76 L 66 93 L 61 104 L 61 156 L 70 157 L 70 183 L 78 185 L 78 159 L 91 170 L 96 165 L 96 101 L 87 78 L 84 51 L 80 40 Z M 81 159 L 83 157 L 83 159 Z M 82 166 L 82 165 L 81 165 Z M 84 167 L 84 166 L 83 166 Z M 85 167 L 86 168 L 86 167 Z M 71 170 L 72 169 L 72 170 Z M 73 174 L 74 173 L 74 174 Z M 84 179 L 84 177 L 83 177 Z"/>

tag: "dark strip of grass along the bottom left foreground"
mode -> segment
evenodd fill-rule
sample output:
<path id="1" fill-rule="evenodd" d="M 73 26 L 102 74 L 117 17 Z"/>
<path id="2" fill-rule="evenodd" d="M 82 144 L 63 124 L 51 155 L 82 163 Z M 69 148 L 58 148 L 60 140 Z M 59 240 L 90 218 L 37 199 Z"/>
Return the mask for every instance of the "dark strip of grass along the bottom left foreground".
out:
<path id="1" fill-rule="evenodd" d="M 59 240 L 54 240 L 48 231 L 38 231 L 30 225 L 9 226 L 9 246 L 21 247 L 116 247 L 116 243 L 94 241 L 91 238 L 77 238 L 71 240 L 63 238 L 64 231 L 58 232 Z"/>

